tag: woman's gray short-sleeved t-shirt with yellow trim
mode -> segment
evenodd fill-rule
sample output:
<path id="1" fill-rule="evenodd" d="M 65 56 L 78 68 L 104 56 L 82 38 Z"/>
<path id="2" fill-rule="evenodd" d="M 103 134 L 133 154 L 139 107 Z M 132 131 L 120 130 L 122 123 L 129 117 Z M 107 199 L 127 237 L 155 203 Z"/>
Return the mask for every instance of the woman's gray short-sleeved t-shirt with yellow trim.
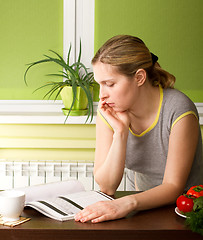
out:
<path id="1" fill-rule="evenodd" d="M 154 123 L 142 134 L 136 135 L 130 130 L 128 136 L 126 168 L 136 172 L 136 184 L 142 191 L 162 183 L 169 136 L 174 124 L 188 114 L 194 114 L 199 118 L 194 103 L 178 90 L 160 88 L 160 96 L 159 111 Z M 132 184 L 133 171 L 128 172 Z M 198 146 L 185 190 L 202 182 L 202 137 L 199 128 Z"/>

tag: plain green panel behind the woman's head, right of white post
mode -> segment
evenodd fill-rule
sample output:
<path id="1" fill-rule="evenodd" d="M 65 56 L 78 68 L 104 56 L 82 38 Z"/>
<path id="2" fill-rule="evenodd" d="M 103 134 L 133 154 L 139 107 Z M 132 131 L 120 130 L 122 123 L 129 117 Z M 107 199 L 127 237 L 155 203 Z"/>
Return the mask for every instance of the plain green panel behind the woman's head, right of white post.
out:
<path id="1" fill-rule="evenodd" d="M 203 102 L 202 0 L 96 0 L 95 50 L 117 34 L 140 37 L 176 76 L 175 87 Z"/>

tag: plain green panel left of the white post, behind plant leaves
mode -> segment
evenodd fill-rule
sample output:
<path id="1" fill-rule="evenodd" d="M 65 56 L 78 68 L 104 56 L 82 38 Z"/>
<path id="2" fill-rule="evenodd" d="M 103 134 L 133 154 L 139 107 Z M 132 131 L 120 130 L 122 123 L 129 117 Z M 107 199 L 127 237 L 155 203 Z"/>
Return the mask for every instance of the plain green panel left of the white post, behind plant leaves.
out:
<path id="1" fill-rule="evenodd" d="M 55 66 L 36 67 L 23 74 L 26 64 L 53 49 L 63 52 L 63 0 L 0 0 L 0 100 L 42 99 L 33 90 L 47 81 Z"/>

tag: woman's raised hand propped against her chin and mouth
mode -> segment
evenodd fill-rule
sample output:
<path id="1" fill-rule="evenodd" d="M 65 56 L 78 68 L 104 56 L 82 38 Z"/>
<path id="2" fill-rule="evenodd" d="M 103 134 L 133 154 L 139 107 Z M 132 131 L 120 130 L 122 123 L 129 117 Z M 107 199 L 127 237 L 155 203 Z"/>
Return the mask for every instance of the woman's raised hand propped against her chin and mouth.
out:
<path id="1" fill-rule="evenodd" d="M 114 132 L 121 132 L 129 129 L 130 119 L 127 111 L 116 112 L 105 100 L 100 100 L 99 110 L 104 118 L 113 128 Z"/>

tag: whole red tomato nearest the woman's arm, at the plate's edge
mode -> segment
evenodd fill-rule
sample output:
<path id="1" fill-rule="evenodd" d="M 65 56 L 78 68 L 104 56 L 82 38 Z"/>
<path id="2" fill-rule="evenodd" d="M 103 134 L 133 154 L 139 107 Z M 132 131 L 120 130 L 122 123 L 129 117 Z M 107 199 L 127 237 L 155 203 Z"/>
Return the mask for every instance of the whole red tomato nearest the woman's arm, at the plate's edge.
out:
<path id="1" fill-rule="evenodd" d="M 191 212 L 193 210 L 193 199 L 187 195 L 180 195 L 176 200 L 176 205 L 181 212 Z"/>

